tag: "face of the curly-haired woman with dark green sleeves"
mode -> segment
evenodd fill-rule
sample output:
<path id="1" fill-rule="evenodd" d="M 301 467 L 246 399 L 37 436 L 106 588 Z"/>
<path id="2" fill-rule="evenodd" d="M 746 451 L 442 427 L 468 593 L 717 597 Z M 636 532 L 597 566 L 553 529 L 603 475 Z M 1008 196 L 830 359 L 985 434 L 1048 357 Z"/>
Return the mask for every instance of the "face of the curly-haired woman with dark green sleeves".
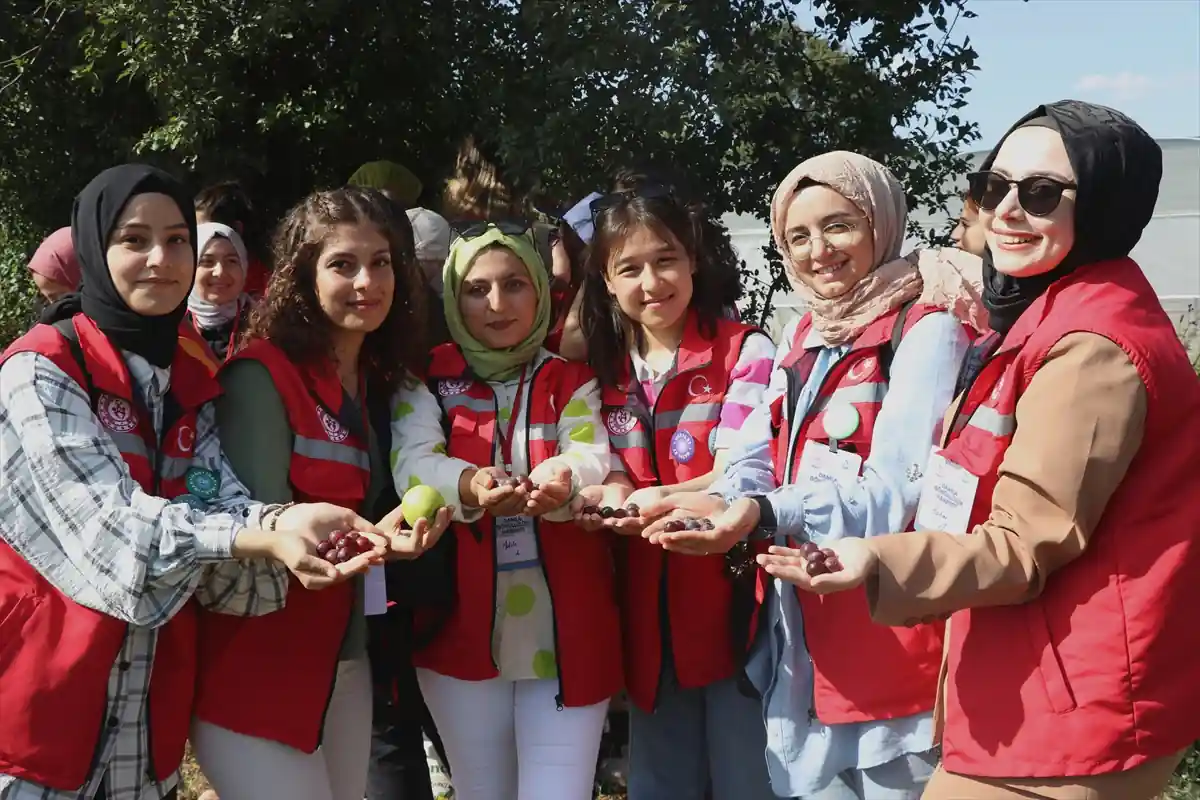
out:
<path id="1" fill-rule="evenodd" d="M 373 224 L 330 228 L 317 259 L 317 301 L 342 332 L 366 335 L 383 325 L 396 290 L 391 246 Z"/>

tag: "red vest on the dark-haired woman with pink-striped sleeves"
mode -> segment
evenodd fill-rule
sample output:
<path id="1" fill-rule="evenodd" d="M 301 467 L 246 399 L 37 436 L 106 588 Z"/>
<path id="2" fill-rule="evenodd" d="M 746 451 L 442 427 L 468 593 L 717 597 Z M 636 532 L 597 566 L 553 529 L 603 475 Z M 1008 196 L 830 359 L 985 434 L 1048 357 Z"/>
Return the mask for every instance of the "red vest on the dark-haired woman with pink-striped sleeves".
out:
<path id="1" fill-rule="evenodd" d="M 604 416 L 608 441 L 634 486 L 670 486 L 713 469 L 713 444 L 730 374 L 746 335 L 755 330 L 720 319 L 715 337 L 708 339 L 696 314 L 689 313 L 676 374 L 653 408 L 642 401 L 626 359 L 618 385 L 604 390 Z M 646 710 L 655 705 L 662 672 L 664 603 L 679 685 L 694 688 L 733 675 L 738 658 L 730 637 L 732 585 L 725 555 L 667 553 L 641 537 L 623 537 L 619 545 L 630 698 Z"/>

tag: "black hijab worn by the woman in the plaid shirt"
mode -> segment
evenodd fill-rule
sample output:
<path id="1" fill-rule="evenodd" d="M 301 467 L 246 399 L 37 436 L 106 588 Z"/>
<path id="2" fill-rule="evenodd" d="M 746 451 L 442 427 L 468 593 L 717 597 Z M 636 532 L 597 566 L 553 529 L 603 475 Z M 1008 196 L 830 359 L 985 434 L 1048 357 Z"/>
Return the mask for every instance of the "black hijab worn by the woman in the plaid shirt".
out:
<path id="1" fill-rule="evenodd" d="M 108 271 L 108 237 L 121 212 L 138 194 L 166 194 L 175 201 L 191 233 L 192 265 L 196 265 L 196 210 L 187 188 L 154 167 L 122 164 L 106 169 L 76 198 L 71 212 L 71 240 L 79 257 L 83 282 L 79 290 L 42 312 L 42 321 L 56 323 L 84 313 L 113 344 L 143 356 L 156 367 L 169 367 L 175 357 L 179 324 L 187 312 L 187 295 L 169 314 L 139 314 L 121 299 Z"/>

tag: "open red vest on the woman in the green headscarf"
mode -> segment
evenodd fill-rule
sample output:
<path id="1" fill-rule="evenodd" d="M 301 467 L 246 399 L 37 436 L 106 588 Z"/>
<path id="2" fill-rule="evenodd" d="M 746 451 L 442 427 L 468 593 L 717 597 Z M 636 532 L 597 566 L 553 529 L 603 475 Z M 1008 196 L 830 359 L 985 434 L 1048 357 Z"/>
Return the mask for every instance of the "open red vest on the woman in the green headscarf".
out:
<path id="1" fill-rule="evenodd" d="M 467 371 L 455 344 L 433 349 L 430 380 L 445 414 L 446 452 L 479 467 L 494 463 L 496 396 Z M 524 390 L 523 435 L 529 469 L 558 451 L 558 415 L 575 391 L 592 380 L 587 365 L 552 357 L 538 367 Z M 413 657 L 418 667 L 460 680 L 499 675 L 492 660 L 496 616 L 496 545 L 492 517 L 456 523 L 457 603 L 433 640 Z M 622 688 L 620 628 L 613 594 L 612 554 L 602 533 L 569 522 L 534 519 L 538 552 L 554 610 L 558 703 L 599 703 Z M 420 616 L 420 613 L 419 613 Z M 420 619 L 419 619 L 420 622 Z"/>

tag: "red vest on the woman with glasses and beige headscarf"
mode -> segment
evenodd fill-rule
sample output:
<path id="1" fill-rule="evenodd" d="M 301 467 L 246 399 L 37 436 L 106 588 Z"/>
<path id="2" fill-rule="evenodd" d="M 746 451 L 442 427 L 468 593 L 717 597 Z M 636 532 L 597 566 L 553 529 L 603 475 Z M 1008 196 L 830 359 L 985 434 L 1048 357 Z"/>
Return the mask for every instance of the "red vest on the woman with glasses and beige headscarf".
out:
<path id="1" fill-rule="evenodd" d="M 902 323 L 902 331 L 906 333 L 918 320 L 938 311 L 932 306 L 913 306 Z M 900 309 L 894 309 L 869 325 L 850 351 L 829 369 L 809 413 L 800 421 L 796 452 L 788 462 L 792 441 L 788 416 L 794 413 L 796 398 L 812 368 L 811 356 L 806 356 L 811 351 L 804 349 L 811 317 L 805 314 L 800 319 L 792 350 L 780 365 L 787 374 L 788 391 L 772 404 L 772 425 L 778 429 L 772 461 L 780 486 L 794 482 L 799 474 L 805 441 L 822 445 L 829 441 L 824 415 L 830 408 L 854 407 L 858 428 L 839 440 L 838 446 L 857 453 L 864 462 L 870 457 L 875 420 L 888 391 L 881 356 L 887 357 L 884 348 L 890 348 L 899 313 Z M 760 571 L 760 584 L 767 579 L 768 576 Z M 913 627 L 876 625 L 862 589 L 832 595 L 799 590 L 796 594 L 812 660 L 812 710 L 817 718 L 827 724 L 892 720 L 934 708 L 942 663 L 943 622 Z"/>

